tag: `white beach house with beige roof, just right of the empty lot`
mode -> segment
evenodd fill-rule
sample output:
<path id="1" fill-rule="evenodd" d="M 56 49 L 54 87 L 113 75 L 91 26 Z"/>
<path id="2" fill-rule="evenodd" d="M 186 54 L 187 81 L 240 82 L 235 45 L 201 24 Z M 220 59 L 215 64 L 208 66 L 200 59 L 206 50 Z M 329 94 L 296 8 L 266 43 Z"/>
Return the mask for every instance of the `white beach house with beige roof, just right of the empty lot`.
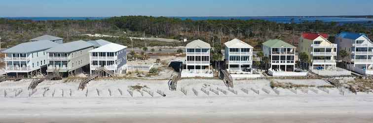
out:
<path id="1" fill-rule="evenodd" d="M 213 77 L 210 70 L 209 43 L 202 40 L 194 40 L 186 44 L 186 67 L 182 71 L 182 77 Z"/>

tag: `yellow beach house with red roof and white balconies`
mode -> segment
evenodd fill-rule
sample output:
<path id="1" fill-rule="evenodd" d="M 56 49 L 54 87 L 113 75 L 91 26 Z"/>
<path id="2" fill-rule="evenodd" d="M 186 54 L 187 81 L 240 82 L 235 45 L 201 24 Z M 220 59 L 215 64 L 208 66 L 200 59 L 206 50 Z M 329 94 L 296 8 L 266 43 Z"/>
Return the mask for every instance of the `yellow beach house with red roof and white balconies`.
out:
<path id="1" fill-rule="evenodd" d="M 299 38 L 298 51 L 309 57 L 308 69 L 318 75 L 350 75 L 351 72 L 336 67 L 337 44 L 330 42 L 326 33 L 303 32 Z"/>

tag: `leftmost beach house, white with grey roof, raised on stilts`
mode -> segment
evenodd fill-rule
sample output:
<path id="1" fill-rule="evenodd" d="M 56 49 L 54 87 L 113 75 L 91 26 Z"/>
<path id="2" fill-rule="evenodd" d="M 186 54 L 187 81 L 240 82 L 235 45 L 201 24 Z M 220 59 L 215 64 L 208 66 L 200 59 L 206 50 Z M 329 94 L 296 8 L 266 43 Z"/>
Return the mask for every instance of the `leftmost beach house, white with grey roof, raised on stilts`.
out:
<path id="1" fill-rule="evenodd" d="M 5 72 L 16 75 L 35 75 L 35 71 L 45 72 L 48 64 L 49 48 L 59 45 L 48 40 L 39 40 L 18 44 L 3 51 L 5 53 Z"/>

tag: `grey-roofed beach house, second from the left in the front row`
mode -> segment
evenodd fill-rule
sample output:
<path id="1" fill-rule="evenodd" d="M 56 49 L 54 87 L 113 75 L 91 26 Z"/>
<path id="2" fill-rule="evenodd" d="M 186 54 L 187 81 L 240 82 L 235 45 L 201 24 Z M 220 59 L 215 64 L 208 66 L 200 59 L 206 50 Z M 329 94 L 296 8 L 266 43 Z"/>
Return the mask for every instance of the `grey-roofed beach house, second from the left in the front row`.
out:
<path id="1" fill-rule="evenodd" d="M 58 71 L 63 77 L 81 72 L 80 68 L 89 64 L 90 50 L 93 50 L 93 44 L 83 40 L 63 43 L 46 50 L 49 60 L 47 72 Z"/>

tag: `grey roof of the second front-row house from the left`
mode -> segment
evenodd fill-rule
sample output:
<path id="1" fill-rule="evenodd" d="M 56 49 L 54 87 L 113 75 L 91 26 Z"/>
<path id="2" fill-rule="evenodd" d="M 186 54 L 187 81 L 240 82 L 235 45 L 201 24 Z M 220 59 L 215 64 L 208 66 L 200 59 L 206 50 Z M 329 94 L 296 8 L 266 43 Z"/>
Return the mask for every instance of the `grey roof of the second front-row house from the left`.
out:
<path id="1" fill-rule="evenodd" d="M 46 50 L 46 52 L 70 53 L 73 51 L 77 51 L 77 50 L 92 47 L 92 46 L 93 44 L 91 43 L 88 43 L 83 40 L 78 40 L 78 41 L 60 44 L 56 47 Z"/>

